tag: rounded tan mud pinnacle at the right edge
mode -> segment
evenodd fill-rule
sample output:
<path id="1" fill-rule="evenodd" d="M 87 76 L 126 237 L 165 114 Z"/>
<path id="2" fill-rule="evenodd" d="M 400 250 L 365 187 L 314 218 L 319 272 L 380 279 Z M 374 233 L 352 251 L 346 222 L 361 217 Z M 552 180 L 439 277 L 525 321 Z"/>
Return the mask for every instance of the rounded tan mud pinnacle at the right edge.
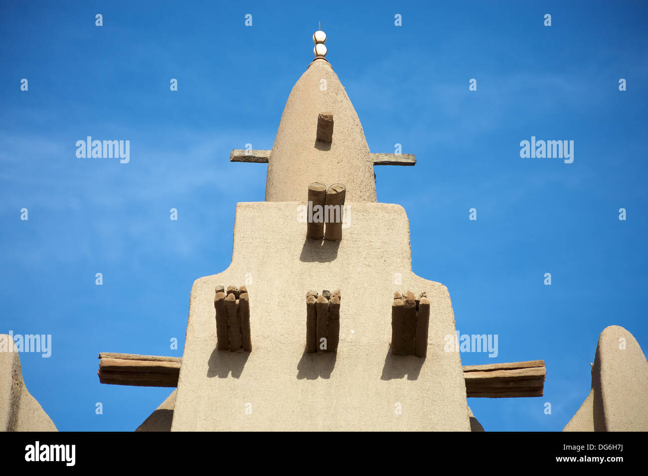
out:
<path id="1" fill-rule="evenodd" d="M 648 362 L 623 327 L 599 335 L 592 390 L 564 431 L 648 431 Z"/>

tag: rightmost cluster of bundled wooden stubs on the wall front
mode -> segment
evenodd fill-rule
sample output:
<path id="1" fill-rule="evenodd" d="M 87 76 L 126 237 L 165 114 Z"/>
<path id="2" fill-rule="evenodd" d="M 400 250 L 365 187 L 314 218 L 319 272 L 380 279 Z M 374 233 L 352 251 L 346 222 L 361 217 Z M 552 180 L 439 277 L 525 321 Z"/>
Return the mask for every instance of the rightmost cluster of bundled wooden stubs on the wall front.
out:
<path id="1" fill-rule="evenodd" d="M 419 297 L 411 291 L 394 293 L 391 304 L 391 353 L 397 356 L 426 357 L 430 299 L 425 293 Z"/>

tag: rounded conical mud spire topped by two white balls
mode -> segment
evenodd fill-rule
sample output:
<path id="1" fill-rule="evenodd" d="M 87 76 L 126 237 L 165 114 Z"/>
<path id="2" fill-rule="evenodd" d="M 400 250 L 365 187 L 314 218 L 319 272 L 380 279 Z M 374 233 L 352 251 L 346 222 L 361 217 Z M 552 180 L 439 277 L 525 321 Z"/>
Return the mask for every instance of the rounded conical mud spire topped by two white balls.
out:
<path id="1" fill-rule="evenodd" d="M 318 115 L 324 111 L 334 117 L 331 143 L 316 140 Z M 347 203 L 376 201 L 373 159 L 360 119 L 323 60 L 310 65 L 288 97 L 268 159 L 266 201 L 303 201 L 312 182 L 343 183 Z"/>

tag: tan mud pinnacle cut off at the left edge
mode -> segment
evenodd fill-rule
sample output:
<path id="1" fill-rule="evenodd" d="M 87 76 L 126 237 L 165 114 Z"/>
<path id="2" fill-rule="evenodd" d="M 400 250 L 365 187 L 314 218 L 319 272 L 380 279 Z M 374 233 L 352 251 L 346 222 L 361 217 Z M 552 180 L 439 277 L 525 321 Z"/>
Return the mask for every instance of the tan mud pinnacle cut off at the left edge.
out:
<path id="1" fill-rule="evenodd" d="M 25 387 L 12 337 L 2 334 L 0 339 L 13 349 L 0 352 L 0 431 L 56 431 L 54 422 Z"/>

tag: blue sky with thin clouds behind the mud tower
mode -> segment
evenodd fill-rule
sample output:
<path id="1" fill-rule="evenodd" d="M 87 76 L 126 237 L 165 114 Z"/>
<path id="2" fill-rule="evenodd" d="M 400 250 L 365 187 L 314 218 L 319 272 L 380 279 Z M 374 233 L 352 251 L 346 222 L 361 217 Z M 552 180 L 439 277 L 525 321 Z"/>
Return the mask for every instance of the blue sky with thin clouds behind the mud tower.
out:
<path id="1" fill-rule="evenodd" d="M 462 334 L 499 336 L 496 359 L 462 363 L 546 361 L 542 398 L 474 414 L 561 430 L 603 328 L 648 348 L 647 19 L 603 1 L 3 3 L 0 332 L 52 335 L 51 357 L 21 354 L 29 391 L 67 431 L 131 431 L 170 393 L 100 385 L 98 352 L 182 355 L 192 283 L 229 265 L 236 203 L 264 199 L 267 166 L 229 152 L 272 148 L 321 21 L 371 151 L 417 156 L 375 168 L 413 271 L 448 287 Z M 78 159 L 87 135 L 128 139 L 130 163 Z M 574 141 L 573 163 L 520 158 L 531 136 Z"/>

